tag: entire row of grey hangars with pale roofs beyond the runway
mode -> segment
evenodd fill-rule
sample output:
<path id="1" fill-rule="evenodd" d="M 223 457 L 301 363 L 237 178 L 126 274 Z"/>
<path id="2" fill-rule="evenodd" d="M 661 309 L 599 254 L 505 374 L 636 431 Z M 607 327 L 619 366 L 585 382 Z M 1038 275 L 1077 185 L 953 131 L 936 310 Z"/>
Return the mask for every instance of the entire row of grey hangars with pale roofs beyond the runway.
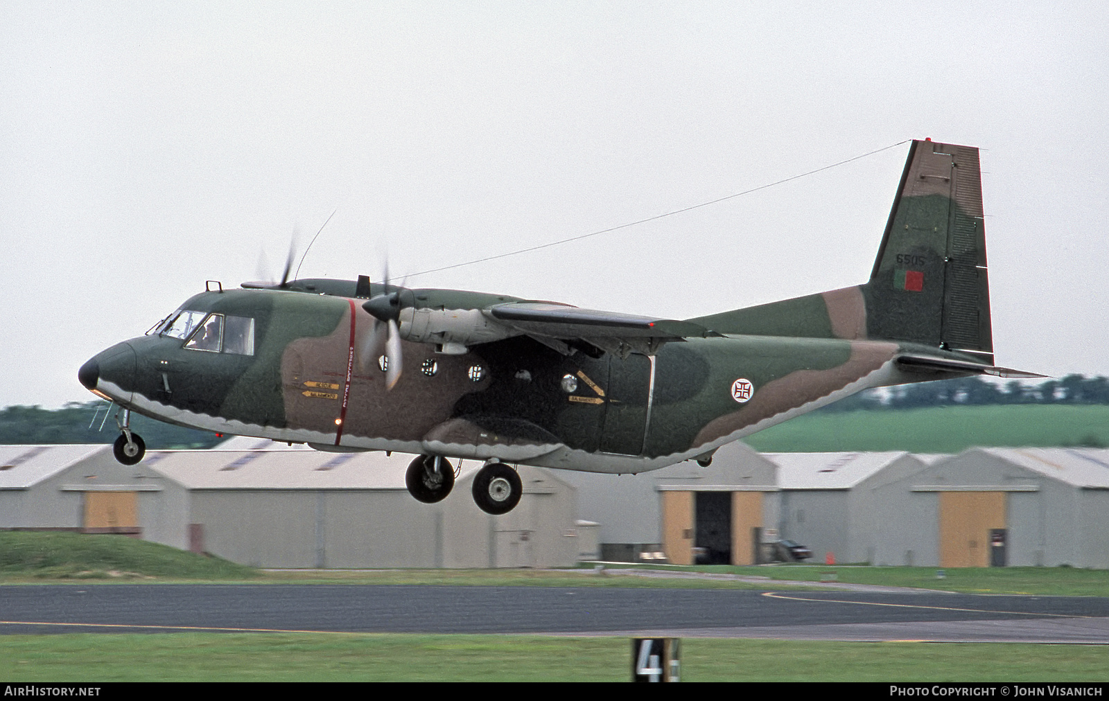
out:
<path id="1" fill-rule="evenodd" d="M 464 465 L 437 505 L 404 484 L 411 456 L 326 454 L 238 438 L 152 450 L 0 446 L 0 528 L 123 534 L 269 568 L 557 567 L 579 560 L 754 563 L 791 539 L 812 561 L 1109 568 L 1109 450 L 975 448 L 759 454 L 721 448 L 640 475 L 521 467 L 492 517 Z"/>

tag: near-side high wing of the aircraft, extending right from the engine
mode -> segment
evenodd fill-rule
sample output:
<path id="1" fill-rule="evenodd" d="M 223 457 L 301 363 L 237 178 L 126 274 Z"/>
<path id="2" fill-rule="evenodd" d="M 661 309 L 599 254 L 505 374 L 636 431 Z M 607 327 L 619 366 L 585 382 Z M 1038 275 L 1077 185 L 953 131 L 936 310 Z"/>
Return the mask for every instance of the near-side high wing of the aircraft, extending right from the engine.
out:
<path id="1" fill-rule="evenodd" d="M 574 347 L 574 342 L 581 341 L 622 357 L 629 353 L 650 355 L 670 341 L 720 336 L 691 322 L 583 309 L 550 302 L 498 304 L 485 309 L 485 314 L 557 350 L 562 349 L 559 346 Z"/>

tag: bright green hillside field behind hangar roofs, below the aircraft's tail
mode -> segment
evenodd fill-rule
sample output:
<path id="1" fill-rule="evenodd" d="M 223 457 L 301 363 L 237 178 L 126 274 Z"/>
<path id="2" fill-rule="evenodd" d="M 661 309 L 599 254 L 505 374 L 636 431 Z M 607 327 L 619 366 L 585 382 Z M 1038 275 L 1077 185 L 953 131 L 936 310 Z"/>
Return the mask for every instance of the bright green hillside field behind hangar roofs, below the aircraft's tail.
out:
<path id="1" fill-rule="evenodd" d="M 816 412 L 744 440 L 764 453 L 959 453 L 973 446 L 1109 446 L 1109 406 L 952 406 L 897 412 Z"/>

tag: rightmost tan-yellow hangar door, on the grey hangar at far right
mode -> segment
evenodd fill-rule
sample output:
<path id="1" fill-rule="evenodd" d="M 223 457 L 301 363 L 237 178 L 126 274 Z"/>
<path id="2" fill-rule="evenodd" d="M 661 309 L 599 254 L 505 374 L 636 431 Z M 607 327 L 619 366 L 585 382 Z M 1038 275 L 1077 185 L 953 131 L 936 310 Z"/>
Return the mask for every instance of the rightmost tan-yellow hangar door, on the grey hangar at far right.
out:
<path id="1" fill-rule="evenodd" d="M 1004 491 L 940 491 L 939 566 L 989 567 L 995 528 L 1005 528 Z"/>

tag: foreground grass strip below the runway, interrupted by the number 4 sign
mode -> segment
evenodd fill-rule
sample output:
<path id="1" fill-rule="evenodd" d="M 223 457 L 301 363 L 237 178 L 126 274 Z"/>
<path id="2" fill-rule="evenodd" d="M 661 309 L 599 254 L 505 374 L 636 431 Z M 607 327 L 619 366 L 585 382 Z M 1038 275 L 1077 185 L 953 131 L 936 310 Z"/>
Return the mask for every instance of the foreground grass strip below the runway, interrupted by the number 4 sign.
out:
<path id="1" fill-rule="evenodd" d="M 1101 646 L 683 639 L 683 681 L 1106 681 Z M 846 661 L 849 660 L 849 663 Z M 628 638 L 407 634 L 0 636 L 0 679 L 629 681 Z"/>

